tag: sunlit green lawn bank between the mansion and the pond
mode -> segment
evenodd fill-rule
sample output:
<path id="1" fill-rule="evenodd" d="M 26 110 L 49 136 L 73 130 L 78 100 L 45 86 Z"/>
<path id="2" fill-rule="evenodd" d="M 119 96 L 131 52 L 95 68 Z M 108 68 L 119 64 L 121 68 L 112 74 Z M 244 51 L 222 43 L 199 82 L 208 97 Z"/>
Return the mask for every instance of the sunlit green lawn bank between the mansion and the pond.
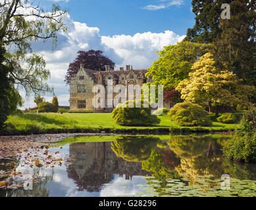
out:
<path id="1" fill-rule="evenodd" d="M 211 131 L 233 131 L 238 124 L 217 121 L 212 127 L 182 127 L 170 121 L 167 116 L 159 116 L 161 123 L 153 127 L 125 127 L 111 119 L 111 113 L 64 113 L 64 114 L 20 114 L 9 116 L 7 129 L 1 135 L 26 135 L 40 133 L 189 133 Z"/>

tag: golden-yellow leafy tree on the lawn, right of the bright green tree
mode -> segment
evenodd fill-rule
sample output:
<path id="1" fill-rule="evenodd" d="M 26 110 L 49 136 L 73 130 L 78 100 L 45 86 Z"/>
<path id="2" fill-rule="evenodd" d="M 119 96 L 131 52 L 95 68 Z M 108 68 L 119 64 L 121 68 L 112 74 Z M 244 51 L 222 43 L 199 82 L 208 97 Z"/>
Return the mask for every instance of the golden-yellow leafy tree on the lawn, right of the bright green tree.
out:
<path id="1" fill-rule="evenodd" d="M 209 112 L 211 104 L 226 105 L 236 108 L 238 104 L 249 104 L 255 95 L 255 87 L 242 85 L 242 80 L 228 70 L 220 70 L 215 66 L 211 53 L 206 53 L 192 66 L 188 78 L 178 84 L 176 90 L 181 98 L 197 104 L 207 102 Z"/>

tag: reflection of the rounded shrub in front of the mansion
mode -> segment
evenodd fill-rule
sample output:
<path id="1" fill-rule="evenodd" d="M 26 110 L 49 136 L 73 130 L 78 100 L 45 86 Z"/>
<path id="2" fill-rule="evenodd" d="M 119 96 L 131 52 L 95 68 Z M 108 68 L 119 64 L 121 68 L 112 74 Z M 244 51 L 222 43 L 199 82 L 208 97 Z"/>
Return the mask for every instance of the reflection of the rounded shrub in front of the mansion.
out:
<path id="1" fill-rule="evenodd" d="M 155 148 L 159 138 L 155 137 L 120 137 L 112 143 L 112 150 L 116 156 L 126 161 L 141 162 L 149 158 L 151 150 Z"/>

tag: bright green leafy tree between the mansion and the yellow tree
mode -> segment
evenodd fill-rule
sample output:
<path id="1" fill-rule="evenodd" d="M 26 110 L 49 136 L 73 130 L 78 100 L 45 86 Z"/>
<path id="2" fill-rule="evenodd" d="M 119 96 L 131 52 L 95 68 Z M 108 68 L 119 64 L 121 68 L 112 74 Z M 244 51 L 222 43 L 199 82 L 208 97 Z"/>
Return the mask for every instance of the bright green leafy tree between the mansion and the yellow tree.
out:
<path id="1" fill-rule="evenodd" d="M 209 51 L 209 45 L 182 41 L 165 47 L 157 52 L 159 59 L 153 62 L 146 76 L 151 76 L 155 83 L 172 89 L 192 71 L 193 63 Z"/>

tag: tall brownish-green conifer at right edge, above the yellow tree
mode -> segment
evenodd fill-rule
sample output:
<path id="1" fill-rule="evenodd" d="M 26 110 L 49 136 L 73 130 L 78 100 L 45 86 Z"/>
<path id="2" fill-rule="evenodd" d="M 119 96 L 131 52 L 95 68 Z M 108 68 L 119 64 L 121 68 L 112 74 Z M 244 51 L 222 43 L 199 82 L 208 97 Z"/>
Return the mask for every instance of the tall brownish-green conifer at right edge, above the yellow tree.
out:
<path id="1" fill-rule="evenodd" d="M 219 68 L 256 85 L 256 2 L 237 0 L 230 9 L 230 20 L 220 20 L 221 33 L 213 43 L 215 60 Z"/>

